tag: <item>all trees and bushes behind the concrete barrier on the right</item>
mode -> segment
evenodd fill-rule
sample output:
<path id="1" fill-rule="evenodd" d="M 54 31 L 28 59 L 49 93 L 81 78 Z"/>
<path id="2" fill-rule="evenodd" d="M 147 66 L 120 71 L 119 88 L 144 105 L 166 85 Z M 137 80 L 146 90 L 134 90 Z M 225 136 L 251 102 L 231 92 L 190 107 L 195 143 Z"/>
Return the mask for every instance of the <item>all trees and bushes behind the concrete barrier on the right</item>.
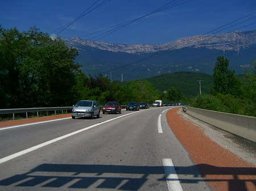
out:
<path id="1" fill-rule="evenodd" d="M 228 60 L 218 57 L 211 95 L 193 97 L 191 106 L 213 111 L 256 116 L 256 62 L 246 71 L 243 84 L 228 69 Z"/>

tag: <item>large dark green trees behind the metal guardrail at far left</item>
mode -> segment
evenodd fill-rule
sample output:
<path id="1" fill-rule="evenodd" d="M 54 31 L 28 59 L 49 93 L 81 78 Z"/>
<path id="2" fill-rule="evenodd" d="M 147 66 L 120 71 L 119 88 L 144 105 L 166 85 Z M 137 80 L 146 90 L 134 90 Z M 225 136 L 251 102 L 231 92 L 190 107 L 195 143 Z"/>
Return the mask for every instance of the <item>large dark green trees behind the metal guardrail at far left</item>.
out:
<path id="1" fill-rule="evenodd" d="M 1 108 L 70 104 L 80 67 L 73 61 L 77 55 L 35 27 L 22 33 L 1 28 Z"/>

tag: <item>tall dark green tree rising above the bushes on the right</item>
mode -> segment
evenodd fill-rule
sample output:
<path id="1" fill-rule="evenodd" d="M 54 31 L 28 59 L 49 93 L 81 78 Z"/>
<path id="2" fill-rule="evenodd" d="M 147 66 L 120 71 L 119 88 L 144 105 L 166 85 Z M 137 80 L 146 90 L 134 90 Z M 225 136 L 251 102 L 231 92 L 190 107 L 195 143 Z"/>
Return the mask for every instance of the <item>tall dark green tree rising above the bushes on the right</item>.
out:
<path id="1" fill-rule="evenodd" d="M 241 95 L 241 81 L 234 76 L 234 70 L 229 70 L 229 60 L 224 56 L 217 57 L 213 73 L 213 89 L 211 93 L 230 94 L 233 96 Z"/>

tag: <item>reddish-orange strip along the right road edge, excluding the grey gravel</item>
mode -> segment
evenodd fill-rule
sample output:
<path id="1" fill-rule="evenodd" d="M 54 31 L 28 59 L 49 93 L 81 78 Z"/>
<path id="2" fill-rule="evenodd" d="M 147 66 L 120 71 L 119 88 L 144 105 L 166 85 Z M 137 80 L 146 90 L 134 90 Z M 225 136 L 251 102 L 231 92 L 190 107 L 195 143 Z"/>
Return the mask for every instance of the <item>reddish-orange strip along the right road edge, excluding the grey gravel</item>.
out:
<path id="1" fill-rule="evenodd" d="M 256 190 L 256 168 L 212 141 L 203 130 L 177 113 L 167 112 L 168 125 L 188 151 L 201 175 L 215 190 Z"/>

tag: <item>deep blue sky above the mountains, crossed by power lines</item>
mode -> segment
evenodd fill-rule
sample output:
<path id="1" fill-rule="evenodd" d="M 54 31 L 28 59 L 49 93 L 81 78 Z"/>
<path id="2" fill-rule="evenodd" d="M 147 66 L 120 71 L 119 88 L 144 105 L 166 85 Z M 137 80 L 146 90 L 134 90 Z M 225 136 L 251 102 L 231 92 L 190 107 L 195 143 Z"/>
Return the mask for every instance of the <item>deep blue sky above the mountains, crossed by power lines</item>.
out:
<path id="1" fill-rule="evenodd" d="M 100 3 L 105 4 L 96 8 Z M 145 16 L 167 3 L 176 6 Z M 61 27 L 71 23 L 88 9 L 90 12 L 87 11 L 85 16 L 60 32 L 63 29 Z M 104 35 L 104 29 L 133 19 L 138 20 Z M 0 24 L 5 29 L 16 27 L 20 32 L 36 26 L 44 33 L 60 37 L 80 37 L 119 44 L 160 44 L 206 33 L 256 29 L 256 1 L 1 0 Z M 229 25 L 222 27 L 226 24 Z M 217 29 L 219 27 L 222 28 Z M 214 29 L 217 30 L 213 31 Z"/>

